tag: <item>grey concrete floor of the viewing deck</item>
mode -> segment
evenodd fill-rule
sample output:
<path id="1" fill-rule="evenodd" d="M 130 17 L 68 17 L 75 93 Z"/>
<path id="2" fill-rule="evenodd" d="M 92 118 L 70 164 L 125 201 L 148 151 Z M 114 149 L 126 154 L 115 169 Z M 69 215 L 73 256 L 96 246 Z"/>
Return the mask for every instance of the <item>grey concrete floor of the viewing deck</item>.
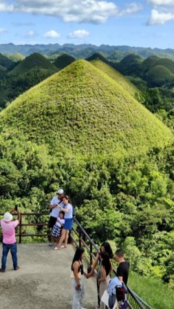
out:
<path id="1" fill-rule="evenodd" d="M 70 309 L 73 288 L 70 271 L 74 248 L 54 251 L 47 244 L 21 244 L 19 271 L 12 270 L 8 256 L 6 273 L 0 273 L 0 308 Z M 96 306 L 95 279 L 86 280 L 87 309 Z"/>

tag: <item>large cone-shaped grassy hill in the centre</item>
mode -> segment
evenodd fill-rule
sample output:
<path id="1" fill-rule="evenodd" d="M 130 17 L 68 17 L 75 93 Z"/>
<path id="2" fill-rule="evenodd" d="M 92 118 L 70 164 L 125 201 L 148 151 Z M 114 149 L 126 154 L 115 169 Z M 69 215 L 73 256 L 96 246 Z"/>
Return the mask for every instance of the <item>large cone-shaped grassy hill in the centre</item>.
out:
<path id="1" fill-rule="evenodd" d="M 33 87 L 0 114 L 1 130 L 74 153 L 143 152 L 173 135 L 120 84 L 78 60 Z"/>

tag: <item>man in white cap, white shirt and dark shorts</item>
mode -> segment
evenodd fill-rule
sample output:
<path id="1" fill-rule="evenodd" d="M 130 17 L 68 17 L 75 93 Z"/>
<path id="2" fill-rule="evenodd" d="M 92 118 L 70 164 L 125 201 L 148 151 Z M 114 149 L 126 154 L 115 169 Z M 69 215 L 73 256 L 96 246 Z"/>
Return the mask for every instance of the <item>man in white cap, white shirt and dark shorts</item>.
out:
<path id="1" fill-rule="evenodd" d="M 50 229 L 53 229 L 54 225 L 56 224 L 56 220 L 61 211 L 59 206 L 63 206 L 63 196 L 64 196 L 63 189 L 59 189 L 57 192 L 57 195 L 54 196 L 54 198 L 52 198 L 52 201 L 50 202 L 50 220 L 48 222 L 48 227 Z M 50 246 L 53 246 L 53 245 L 54 245 L 54 240 L 50 239 Z"/>

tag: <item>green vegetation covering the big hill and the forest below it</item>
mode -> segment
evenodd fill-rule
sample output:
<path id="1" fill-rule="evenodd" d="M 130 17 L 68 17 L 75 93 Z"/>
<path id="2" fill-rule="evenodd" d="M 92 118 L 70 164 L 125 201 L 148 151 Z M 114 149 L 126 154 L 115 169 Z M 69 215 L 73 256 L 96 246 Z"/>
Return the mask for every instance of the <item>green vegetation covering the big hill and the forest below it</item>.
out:
<path id="1" fill-rule="evenodd" d="M 174 112 L 160 109 L 166 84 L 148 89 L 96 58 L 72 63 L 0 113 L 1 210 L 18 203 L 44 211 L 64 187 L 94 240 L 124 249 L 133 289 L 154 309 L 172 309 L 174 144 L 166 126 L 173 130 Z"/>

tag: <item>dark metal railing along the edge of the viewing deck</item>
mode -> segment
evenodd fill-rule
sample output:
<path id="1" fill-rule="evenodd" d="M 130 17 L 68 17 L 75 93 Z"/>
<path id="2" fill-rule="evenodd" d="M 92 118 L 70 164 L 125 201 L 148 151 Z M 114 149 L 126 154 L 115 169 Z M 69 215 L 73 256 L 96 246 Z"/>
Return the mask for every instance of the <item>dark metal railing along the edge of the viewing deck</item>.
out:
<path id="1" fill-rule="evenodd" d="M 19 222 L 19 233 L 17 233 L 17 236 L 19 237 L 19 244 L 22 242 L 22 238 L 24 237 L 41 237 L 41 238 L 46 238 L 48 236 L 48 230 L 47 233 L 43 231 L 42 233 L 26 233 L 23 232 L 23 227 L 36 227 L 38 229 L 47 227 L 47 222 L 23 222 L 23 218 L 25 217 L 32 217 L 37 220 L 41 216 L 48 216 L 50 213 L 49 212 L 34 212 L 34 213 L 21 213 L 21 220 Z M 3 216 L 3 214 L 0 214 L 0 216 Z M 72 235 L 72 240 L 74 243 L 81 247 L 85 247 L 89 253 L 89 264 L 91 265 L 93 263 L 93 260 L 96 259 L 96 253 L 98 252 L 98 246 L 97 244 L 94 243 L 94 241 L 90 238 L 88 233 L 85 231 L 82 225 L 78 222 L 78 220 L 74 217 L 74 235 Z M 75 236 L 75 237 L 74 237 Z M 116 271 L 113 271 L 111 277 L 116 276 Z M 129 305 L 130 309 L 152 309 L 151 306 L 146 304 L 146 302 L 141 299 L 129 286 L 127 286 L 128 293 L 127 293 L 127 302 Z"/>

